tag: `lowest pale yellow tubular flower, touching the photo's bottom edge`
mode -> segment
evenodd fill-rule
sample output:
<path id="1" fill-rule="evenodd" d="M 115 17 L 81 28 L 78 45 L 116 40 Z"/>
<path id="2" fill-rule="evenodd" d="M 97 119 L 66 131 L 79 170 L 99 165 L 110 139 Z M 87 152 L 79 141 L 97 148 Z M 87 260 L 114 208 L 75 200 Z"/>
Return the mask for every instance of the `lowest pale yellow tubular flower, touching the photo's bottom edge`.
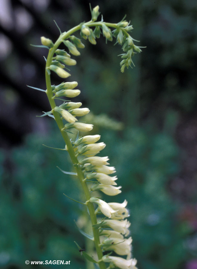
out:
<path id="1" fill-rule="evenodd" d="M 102 260 L 105 262 L 108 262 L 110 259 L 111 262 L 113 262 L 114 265 L 116 265 L 120 269 L 137 269 L 136 268 L 136 259 L 130 259 L 126 260 L 121 257 L 115 257 L 115 256 L 103 256 Z"/>

